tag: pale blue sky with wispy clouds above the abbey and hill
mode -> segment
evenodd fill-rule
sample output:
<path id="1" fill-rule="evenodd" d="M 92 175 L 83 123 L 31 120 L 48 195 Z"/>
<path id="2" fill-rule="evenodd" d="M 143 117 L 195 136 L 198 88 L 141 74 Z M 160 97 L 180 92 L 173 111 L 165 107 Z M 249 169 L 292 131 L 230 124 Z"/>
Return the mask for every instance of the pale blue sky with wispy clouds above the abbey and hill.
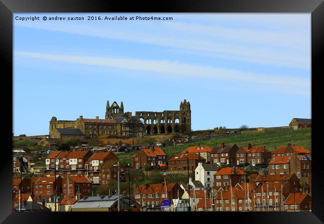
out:
<path id="1" fill-rule="evenodd" d="M 83 16 L 85 20 L 43 21 Z M 87 16 L 172 20 L 87 20 Z M 311 118 L 311 14 L 15 13 L 14 135 L 49 120 L 179 110 L 192 129 L 286 126 Z M 39 21 L 15 20 L 39 16 Z"/>

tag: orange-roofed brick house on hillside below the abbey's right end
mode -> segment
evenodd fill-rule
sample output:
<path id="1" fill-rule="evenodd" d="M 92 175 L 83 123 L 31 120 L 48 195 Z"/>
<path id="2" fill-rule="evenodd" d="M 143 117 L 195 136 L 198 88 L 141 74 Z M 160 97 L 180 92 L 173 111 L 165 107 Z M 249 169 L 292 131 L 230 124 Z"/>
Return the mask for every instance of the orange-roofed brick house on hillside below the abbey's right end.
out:
<path id="1" fill-rule="evenodd" d="M 153 147 L 153 149 L 141 149 L 131 158 L 133 169 L 144 169 L 146 164 L 150 164 L 153 168 L 158 168 L 160 164 L 165 164 L 166 154 L 161 148 Z"/>

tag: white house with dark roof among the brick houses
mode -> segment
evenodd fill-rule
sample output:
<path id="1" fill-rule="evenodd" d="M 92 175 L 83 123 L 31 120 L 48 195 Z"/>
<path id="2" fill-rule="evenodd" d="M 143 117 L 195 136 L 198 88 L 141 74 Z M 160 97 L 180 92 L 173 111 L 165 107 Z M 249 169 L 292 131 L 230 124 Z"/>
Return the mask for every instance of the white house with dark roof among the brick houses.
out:
<path id="1" fill-rule="evenodd" d="M 219 168 L 216 164 L 198 163 L 195 169 L 195 180 L 200 181 L 204 187 L 211 188 L 214 184 L 214 174 Z"/>

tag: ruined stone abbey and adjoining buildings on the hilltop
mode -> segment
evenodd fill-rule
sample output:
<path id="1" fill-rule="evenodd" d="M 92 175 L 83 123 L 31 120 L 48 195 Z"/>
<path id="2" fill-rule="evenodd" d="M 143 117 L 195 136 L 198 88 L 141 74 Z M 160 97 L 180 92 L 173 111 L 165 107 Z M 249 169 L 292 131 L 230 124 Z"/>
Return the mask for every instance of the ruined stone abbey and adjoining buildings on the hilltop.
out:
<path id="1" fill-rule="evenodd" d="M 49 136 L 60 140 L 70 138 L 97 138 L 102 135 L 142 137 L 144 134 L 162 134 L 191 130 L 190 103 L 184 100 L 179 111 L 124 112 L 124 104 L 107 101 L 105 119 L 83 118 L 49 122 Z"/>

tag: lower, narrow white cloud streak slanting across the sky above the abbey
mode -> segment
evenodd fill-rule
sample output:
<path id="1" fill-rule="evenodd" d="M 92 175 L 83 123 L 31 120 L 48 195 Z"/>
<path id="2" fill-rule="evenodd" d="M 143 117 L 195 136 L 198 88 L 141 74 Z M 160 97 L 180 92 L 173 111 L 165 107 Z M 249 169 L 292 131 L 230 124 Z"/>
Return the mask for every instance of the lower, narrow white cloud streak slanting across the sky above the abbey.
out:
<path id="1" fill-rule="evenodd" d="M 202 66 L 195 64 L 179 63 L 176 61 L 158 61 L 158 60 L 142 60 L 137 58 L 110 58 L 110 57 L 93 57 L 85 55 L 72 54 L 47 54 L 38 52 L 14 52 L 14 56 L 22 56 L 29 58 L 37 58 L 41 60 L 50 60 L 67 63 L 77 63 L 93 66 L 115 67 L 128 70 L 140 70 L 151 72 L 155 75 L 171 75 L 178 77 L 194 77 L 194 78 L 213 78 L 234 82 L 247 82 L 257 84 L 266 84 L 268 88 L 277 88 L 283 92 L 292 90 L 292 94 L 296 94 L 298 88 L 299 94 L 309 95 L 310 81 L 304 78 L 292 78 L 283 76 L 273 76 L 266 74 L 255 74 L 251 72 L 214 68 L 210 66 Z"/>

